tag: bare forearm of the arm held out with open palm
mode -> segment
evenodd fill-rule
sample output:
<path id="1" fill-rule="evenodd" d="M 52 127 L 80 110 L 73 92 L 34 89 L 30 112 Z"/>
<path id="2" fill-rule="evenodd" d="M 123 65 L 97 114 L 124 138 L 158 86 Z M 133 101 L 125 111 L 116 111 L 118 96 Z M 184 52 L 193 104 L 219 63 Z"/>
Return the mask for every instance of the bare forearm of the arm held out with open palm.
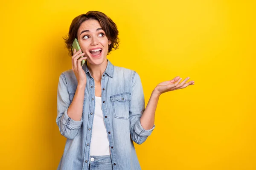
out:
<path id="1" fill-rule="evenodd" d="M 154 90 L 152 92 L 150 99 L 148 101 L 148 105 L 146 106 L 145 111 L 140 118 L 141 126 L 145 130 L 151 129 L 154 126 L 154 118 L 159 96 L 160 94 L 157 93 L 157 91 Z"/>

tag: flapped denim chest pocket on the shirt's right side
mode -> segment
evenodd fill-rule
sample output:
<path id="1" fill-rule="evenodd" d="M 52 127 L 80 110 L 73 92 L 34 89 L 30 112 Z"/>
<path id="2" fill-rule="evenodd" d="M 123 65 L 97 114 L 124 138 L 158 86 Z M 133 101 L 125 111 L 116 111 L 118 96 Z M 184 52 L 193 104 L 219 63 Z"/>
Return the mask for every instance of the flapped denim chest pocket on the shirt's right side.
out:
<path id="1" fill-rule="evenodd" d="M 114 116 L 119 119 L 129 119 L 130 93 L 122 93 L 110 96 L 113 105 Z"/>

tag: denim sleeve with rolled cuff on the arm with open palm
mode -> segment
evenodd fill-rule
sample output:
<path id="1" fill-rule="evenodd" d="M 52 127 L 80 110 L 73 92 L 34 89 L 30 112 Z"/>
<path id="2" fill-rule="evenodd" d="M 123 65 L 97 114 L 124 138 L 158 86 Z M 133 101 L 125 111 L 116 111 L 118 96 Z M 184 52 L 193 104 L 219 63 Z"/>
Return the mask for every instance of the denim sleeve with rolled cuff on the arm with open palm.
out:
<path id="1" fill-rule="evenodd" d="M 139 74 L 134 71 L 132 75 L 132 90 L 131 90 L 131 101 L 129 108 L 129 118 L 130 118 L 130 133 L 131 139 L 137 143 L 142 144 L 145 142 L 148 136 L 151 135 L 155 128 L 155 125 L 148 130 L 145 130 L 141 123 L 140 117 L 145 111 L 145 99 L 143 93 L 143 87 L 140 80 Z"/>

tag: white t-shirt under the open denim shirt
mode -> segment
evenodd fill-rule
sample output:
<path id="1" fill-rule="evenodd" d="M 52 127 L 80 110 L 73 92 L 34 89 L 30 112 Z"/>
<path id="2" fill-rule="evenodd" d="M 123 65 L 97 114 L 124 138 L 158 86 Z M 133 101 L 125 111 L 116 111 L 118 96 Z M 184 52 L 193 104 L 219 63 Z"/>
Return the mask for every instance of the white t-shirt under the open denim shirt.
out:
<path id="1" fill-rule="evenodd" d="M 93 118 L 92 139 L 90 144 L 90 156 L 110 155 L 108 134 L 102 114 L 102 99 L 95 96 L 95 115 Z"/>

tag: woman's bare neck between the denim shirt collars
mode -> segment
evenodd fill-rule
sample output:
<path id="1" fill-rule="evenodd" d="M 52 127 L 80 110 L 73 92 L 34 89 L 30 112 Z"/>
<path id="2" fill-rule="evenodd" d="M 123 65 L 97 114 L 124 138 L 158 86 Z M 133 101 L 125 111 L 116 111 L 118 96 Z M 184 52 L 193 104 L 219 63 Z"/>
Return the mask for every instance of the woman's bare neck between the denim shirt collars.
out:
<path id="1" fill-rule="evenodd" d="M 88 70 L 90 71 L 91 76 L 93 77 L 94 81 L 100 82 L 102 78 L 102 74 L 106 70 L 108 65 L 108 60 L 105 59 L 104 62 L 100 65 L 91 65 L 87 62 Z"/>

